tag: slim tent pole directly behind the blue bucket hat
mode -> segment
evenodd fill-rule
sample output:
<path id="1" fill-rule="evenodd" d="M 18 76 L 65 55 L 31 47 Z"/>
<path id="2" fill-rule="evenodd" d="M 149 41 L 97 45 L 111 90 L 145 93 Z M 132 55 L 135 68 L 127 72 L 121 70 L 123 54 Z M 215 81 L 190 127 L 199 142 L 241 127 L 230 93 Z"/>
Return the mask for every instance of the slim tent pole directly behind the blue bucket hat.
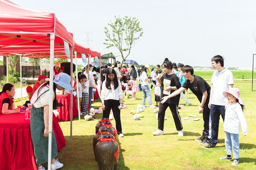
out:
<path id="1" fill-rule="evenodd" d="M 71 44 L 72 45 L 72 44 Z M 70 50 L 70 85 L 73 87 L 73 47 Z M 73 120 L 73 93 L 70 93 L 70 139 L 72 139 L 72 120 Z"/>

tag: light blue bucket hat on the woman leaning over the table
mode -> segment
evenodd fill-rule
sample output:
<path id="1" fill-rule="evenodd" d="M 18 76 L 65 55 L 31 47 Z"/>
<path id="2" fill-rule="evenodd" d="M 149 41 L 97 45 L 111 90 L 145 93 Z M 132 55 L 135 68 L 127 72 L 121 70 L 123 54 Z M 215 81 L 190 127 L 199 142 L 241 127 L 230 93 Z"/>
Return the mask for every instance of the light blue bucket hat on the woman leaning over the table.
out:
<path id="1" fill-rule="evenodd" d="M 70 76 L 66 73 L 59 73 L 55 75 L 53 82 L 55 84 L 58 84 L 60 87 L 63 87 L 67 90 L 72 90 L 72 87 L 70 86 Z"/>

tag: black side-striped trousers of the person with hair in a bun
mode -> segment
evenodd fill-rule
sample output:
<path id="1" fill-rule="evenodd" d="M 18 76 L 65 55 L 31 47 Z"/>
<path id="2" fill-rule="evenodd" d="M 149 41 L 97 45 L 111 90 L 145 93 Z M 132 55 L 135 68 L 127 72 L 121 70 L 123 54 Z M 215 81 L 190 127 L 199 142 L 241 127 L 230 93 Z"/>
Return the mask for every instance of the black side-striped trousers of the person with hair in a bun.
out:
<path id="1" fill-rule="evenodd" d="M 172 117 L 176 126 L 176 129 L 182 130 L 182 123 L 180 119 L 180 115 L 178 112 L 178 105 L 175 104 L 169 104 L 169 103 L 161 103 L 159 102 L 159 110 L 158 110 L 158 129 L 164 130 L 164 115 L 167 108 L 170 108 L 172 112 Z"/>

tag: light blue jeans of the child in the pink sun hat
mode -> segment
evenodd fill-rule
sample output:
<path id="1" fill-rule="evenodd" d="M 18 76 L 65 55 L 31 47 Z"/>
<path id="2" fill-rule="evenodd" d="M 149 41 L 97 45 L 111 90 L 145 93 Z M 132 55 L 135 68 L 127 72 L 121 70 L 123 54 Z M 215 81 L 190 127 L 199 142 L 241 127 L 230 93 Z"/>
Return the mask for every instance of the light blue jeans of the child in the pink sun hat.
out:
<path id="1" fill-rule="evenodd" d="M 227 155 L 231 155 L 233 150 L 234 158 L 239 158 L 239 134 L 225 132 L 225 146 Z"/>

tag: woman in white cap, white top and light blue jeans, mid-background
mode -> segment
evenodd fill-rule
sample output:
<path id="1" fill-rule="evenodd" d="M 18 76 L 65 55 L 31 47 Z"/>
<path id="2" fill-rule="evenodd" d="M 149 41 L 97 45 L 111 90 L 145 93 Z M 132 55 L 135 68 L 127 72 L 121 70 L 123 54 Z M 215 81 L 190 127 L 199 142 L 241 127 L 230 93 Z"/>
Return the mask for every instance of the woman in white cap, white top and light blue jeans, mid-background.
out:
<path id="1" fill-rule="evenodd" d="M 150 69 L 150 67 L 148 65 L 144 66 L 144 68 L 142 69 L 141 75 L 140 75 L 141 89 L 142 89 L 142 94 L 143 94 L 143 96 L 142 96 L 142 104 L 145 107 L 148 107 L 146 105 L 146 98 L 148 96 L 148 104 L 149 104 L 150 108 L 156 108 L 156 106 L 154 106 L 152 104 L 151 93 L 150 93 L 150 90 L 149 90 L 149 87 L 148 87 L 148 81 L 150 79 L 148 79 L 147 71 L 149 69 Z"/>

